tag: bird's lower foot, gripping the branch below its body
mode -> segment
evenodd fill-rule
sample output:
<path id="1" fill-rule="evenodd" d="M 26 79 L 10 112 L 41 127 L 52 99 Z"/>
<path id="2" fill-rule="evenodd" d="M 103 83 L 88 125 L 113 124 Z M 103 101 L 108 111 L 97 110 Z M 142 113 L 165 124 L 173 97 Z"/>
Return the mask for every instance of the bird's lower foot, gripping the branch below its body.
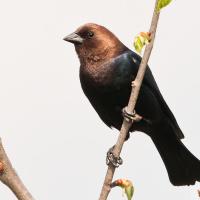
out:
<path id="1" fill-rule="evenodd" d="M 106 157 L 106 164 L 107 165 L 112 164 L 113 167 L 117 168 L 120 165 L 122 165 L 123 160 L 120 157 L 117 157 L 114 155 L 113 153 L 114 148 L 115 148 L 115 145 L 108 150 L 107 157 Z"/>

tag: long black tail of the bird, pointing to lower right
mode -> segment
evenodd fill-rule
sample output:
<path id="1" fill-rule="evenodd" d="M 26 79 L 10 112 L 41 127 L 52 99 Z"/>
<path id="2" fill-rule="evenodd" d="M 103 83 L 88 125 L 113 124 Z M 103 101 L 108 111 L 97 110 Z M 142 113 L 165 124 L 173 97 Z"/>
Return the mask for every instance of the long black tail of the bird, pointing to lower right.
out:
<path id="1" fill-rule="evenodd" d="M 200 161 L 178 139 L 170 122 L 155 127 L 151 138 L 173 185 L 193 185 L 200 181 Z"/>

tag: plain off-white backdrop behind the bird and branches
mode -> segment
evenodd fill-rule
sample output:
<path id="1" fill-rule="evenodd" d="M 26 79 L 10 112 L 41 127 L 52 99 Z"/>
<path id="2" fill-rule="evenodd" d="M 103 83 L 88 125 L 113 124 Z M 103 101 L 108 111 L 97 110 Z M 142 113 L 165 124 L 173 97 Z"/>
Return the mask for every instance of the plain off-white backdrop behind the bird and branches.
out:
<path id="1" fill-rule="evenodd" d="M 62 40 L 86 22 L 102 24 L 132 48 L 148 31 L 154 0 L 1 0 L 0 136 L 36 200 L 98 199 L 106 151 L 117 139 L 84 96 L 74 47 Z M 200 1 L 174 0 L 161 13 L 150 67 L 200 158 Z M 200 184 L 174 187 L 152 141 L 133 133 L 115 179 L 135 185 L 135 200 L 196 200 Z M 0 184 L 0 199 L 15 200 Z M 108 198 L 125 199 L 119 188 Z"/>

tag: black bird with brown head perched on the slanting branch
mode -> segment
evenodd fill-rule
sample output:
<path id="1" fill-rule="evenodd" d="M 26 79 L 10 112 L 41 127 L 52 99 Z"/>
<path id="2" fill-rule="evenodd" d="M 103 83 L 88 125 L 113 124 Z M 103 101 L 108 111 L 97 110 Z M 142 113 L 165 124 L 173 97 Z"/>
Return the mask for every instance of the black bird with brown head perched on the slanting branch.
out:
<path id="1" fill-rule="evenodd" d="M 64 38 L 74 44 L 80 61 L 79 77 L 83 92 L 101 120 L 120 130 L 122 110 L 128 104 L 131 82 L 137 75 L 141 57 L 126 47 L 104 26 L 87 23 Z M 200 181 L 200 161 L 182 143 L 184 134 L 164 100 L 147 66 L 135 107 L 142 120 L 131 132 L 146 133 L 155 144 L 175 186 Z"/>

